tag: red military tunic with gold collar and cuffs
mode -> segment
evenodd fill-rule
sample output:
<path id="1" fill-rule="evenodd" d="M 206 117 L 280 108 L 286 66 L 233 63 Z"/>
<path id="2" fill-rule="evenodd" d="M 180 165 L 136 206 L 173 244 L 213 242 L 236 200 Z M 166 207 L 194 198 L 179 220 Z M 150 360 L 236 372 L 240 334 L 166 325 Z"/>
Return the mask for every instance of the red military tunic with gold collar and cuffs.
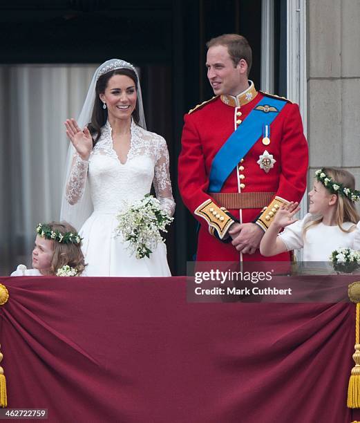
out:
<path id="1" fill-rule="evenodd" d="M 256 221 L 266 230 L 281 203 L 300 202 L 306 188 L 308 152 L 297 104 L 286 100 L 270 125 L 270 143 L 265 145 L 261 136 L 231 171 L 221 189 L 221 193 L 274 193 L 275 200 L 269 207 L 266 209 L 267 203 L 264 208 L 228 209 L 227 213 L 208 193 L 211 163 L 216 153 L 264 96 L 272 97 L 257 92 L 251 84 L 238 97 L 214 97 L 184 116 L 178 184 L 184 204 L 201 225 L 198 261 L 238 261 L 239 258 L 243 261 L 282 261 L 290 258 L 289 253 L 267 258 L 259 250 L 254 254 L 240 254 L 231 243 L 222 240 L 228 238 L 227 230 L 234 222 L 229 214 L 240 223 Z M 271 158 L 266 151 L 272 155 L 273 167 L 268 172 L 258 163 L 264 154 Z"/>

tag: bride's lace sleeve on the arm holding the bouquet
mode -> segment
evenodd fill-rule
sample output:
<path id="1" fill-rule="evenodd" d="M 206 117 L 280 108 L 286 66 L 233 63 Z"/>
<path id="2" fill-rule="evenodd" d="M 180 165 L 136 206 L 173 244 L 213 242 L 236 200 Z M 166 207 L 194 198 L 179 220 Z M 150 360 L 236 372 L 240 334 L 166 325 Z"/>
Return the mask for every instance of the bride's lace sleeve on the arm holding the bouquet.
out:
<path id="1" fill-rule="evenodd" d="M 156 198 L 160 200 L 162 209 L 172 216 L 175 212 L 175 201 L 171 190 L 171 180 L 169 173 L 169 151 L 167 151 L 167 142 L 160 138 L 160 149 L 158 160 L 155 164 L 155 176 L 153 180 Z"/>

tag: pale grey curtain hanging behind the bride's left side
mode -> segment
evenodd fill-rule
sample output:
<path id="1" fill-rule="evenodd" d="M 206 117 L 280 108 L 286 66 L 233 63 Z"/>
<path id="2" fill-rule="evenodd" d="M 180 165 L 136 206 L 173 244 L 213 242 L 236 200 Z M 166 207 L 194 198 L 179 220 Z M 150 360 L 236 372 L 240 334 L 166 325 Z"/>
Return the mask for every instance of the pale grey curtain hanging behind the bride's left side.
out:
<path id="1" fill-rule="evenodd" d="M 64 121 L 79 115 L 95 68 L 0 66 L 0 275 L 30 267 L 35 226 L 59 220 Z"/>

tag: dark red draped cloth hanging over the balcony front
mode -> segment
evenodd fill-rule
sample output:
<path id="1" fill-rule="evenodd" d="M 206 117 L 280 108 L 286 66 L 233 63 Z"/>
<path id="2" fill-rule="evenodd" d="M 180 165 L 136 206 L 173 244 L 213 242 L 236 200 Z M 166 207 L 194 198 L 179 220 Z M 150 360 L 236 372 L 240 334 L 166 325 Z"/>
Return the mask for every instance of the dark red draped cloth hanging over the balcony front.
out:
<path id="1" fill-rule="evenodd" d="M 1 278 L 9 408 L 49 422 L 343 423 L 350 303 L 188 303 L 184 278 Z"/>

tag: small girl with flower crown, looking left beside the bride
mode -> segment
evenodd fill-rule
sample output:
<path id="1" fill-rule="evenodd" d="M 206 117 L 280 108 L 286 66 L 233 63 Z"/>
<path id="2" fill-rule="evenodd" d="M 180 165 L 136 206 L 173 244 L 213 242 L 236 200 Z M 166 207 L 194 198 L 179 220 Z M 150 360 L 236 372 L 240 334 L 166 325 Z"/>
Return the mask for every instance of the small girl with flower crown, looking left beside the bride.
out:
<path id="1" fill-rule="evenodd" d="M 82 238 L 67 222 L 39 223 L 32 269 L 17 266 L 11 276 L 79 276 L 85 269 Z"/>

